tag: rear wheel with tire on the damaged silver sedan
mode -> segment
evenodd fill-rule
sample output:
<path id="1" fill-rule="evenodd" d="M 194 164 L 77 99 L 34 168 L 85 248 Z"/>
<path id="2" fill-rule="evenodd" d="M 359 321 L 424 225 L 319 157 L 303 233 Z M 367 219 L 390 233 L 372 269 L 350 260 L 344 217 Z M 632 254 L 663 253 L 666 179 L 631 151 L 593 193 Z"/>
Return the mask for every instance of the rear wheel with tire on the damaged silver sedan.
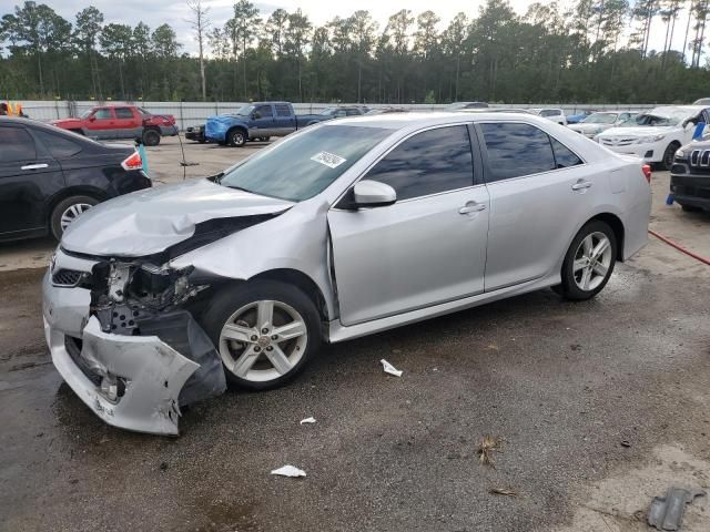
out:
<path id="1" fill-rule="evenodd" d="M 562 282 L 556 291 L 571 300 L 586 300 L 599 294 L 609 282 L 617 260 L 617 239 L 604 222 L 586 224 L 565 255 Z"/>

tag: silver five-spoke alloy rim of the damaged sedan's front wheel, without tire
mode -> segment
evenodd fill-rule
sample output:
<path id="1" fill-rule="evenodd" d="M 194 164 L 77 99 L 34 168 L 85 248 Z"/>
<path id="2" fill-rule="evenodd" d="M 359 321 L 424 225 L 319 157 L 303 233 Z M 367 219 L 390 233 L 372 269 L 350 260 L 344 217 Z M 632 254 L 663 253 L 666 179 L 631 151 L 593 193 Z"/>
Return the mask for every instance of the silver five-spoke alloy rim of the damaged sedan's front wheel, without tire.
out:
<path id="1" fill-rule="evenodd" d="M 306 321 L 290 305 L 260 300 L 236 310 L 220 332 L 220 356 L 236 377 L 265 382 L 296 367 L 308 341 Z"/>

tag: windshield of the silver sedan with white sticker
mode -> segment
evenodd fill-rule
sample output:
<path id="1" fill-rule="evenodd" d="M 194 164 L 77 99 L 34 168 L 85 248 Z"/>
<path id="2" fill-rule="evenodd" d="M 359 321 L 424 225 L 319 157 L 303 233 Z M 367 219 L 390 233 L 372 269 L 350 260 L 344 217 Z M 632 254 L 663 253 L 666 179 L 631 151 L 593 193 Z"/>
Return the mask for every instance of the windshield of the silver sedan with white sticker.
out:
<path id="1" fill-rule="evenodd" d="M 288 136 L 220 180 L 223 186 L 302 202 L 323 192 L 392 130 L 326 125 Z"/>

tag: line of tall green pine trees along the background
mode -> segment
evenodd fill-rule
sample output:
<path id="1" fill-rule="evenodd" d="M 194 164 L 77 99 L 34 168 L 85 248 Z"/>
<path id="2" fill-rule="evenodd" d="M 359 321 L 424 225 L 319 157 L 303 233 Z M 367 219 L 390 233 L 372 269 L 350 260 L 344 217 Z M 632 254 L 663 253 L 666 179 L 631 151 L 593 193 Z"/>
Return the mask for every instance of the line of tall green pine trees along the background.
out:
<path id="1" fill-rule="evenodd" d="M 357 10 L 315 25 L 301 9 L 265 16 L 239 0 L 217 21 L 206 0 L 186 3 L 185 35 L 168 23 L 104 23 L 94 7 L 69 21 L 43 3 L 16 6 L 0 19 L 0 96 L 393 104 L 710 96 L 710 0 L 576 0 L 565 9 L 549 1 L 524 14 L 487 0 L 443 29 L 434 11 L 402 9 L 379 27 Z M 662 49 L 650 48 L 651 34 L 665 37 Z M 673 47 L 679 35 L 682 47 Z M 184 52 L 180 41 L 189 39 L 196 54 Z"/>

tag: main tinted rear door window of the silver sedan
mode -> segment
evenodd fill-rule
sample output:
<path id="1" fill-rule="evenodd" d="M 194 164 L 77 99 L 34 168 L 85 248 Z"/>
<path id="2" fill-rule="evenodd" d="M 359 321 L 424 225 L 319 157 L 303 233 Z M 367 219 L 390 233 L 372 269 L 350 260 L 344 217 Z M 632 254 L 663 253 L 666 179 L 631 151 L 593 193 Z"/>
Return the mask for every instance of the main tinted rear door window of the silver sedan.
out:
<path id="1" fill-rule="evenodd" d="M 555 168 L 547 133 L 529 124 L 480 124 L 488 151 L 487 181 L 508 180 Z"/>

